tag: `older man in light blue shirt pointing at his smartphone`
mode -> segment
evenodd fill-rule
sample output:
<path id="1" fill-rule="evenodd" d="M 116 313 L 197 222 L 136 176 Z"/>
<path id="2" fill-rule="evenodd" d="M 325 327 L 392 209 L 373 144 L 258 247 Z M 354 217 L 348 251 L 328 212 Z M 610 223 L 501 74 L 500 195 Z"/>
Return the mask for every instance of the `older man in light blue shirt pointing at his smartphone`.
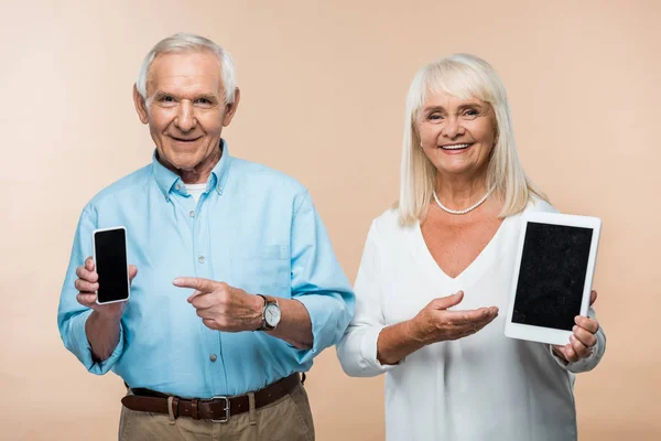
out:
<path id="1" fill-rule="evenodd" d="M 128 385 L 120 439 L 314 439 L 300 373 L 339 341 L 354 294 L 307 191 L 229 155 L 239 98 L 214 42 L 159 42 L 133 88 L 153 161 L 80 216 L 57 324 L 89 372 Z M 131 298 L 97 304 L 91 234 L 117 225 Z"/>

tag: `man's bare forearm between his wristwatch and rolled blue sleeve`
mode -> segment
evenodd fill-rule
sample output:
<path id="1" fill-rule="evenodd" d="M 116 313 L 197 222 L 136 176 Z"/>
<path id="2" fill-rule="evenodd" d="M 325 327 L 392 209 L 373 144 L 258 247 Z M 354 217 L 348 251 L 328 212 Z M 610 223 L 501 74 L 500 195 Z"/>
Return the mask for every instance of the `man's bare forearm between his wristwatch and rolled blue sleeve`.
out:
<path id="1" fill-rule="evenodd" d="M 270 335 L 284 340 L 300 349 L 310 349 L 314 343 L 312 335 L 312 321 L 307 309 L 297 300 L 275 299 L 280 305 L 282 319 L 273 331 L 268 331 Z"/>

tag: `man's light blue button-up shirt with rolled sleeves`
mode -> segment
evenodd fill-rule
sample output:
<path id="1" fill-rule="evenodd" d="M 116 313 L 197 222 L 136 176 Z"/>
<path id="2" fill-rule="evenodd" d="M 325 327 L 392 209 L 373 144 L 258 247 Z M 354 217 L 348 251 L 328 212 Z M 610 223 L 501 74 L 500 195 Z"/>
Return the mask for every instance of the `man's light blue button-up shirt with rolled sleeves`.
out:
<path id="1" fill-rule="evenodd" d="M 85 334 L 91 310 L 76 301 L 76 267 L 91 256 L 96 228 L 127 228 L 129 263 L 138 267 L 121 319 L 119 344 L 95 362 Z M 303 351 L 263 332 L 206 327 L 176 288 L 202 277 L 301 301 L 314 346 Z M 57 325 L 64 345 L 95 374 L 112 369 L 130 387 L 207 398 L 260 389 L 306 372 L 339 342 L 354 313 L 354 293 L 310 194 L 295 180 L 231 158 L 224 143 L 199 201 L 155 160 L 97 194 L 78 223 Z"/>

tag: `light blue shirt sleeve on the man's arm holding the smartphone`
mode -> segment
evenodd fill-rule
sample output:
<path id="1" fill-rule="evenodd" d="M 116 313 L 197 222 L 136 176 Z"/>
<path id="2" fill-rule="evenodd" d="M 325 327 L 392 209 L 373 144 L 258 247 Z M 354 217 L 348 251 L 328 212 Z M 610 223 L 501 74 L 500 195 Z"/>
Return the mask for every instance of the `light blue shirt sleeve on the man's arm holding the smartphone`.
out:
<path id="1" fill-rule="evenodd" d="M 85 259 L 91 256 L 91 234 L 96 229 L 96 218 L 95 209 L 88 205 L 83 211 L 78 220 L 72 256 L 59 297 L 57 327 L 64 346 L 83 363 L 87 370 L 93 374 L 102 375 L 112 368 L 123 353 L 123 325 L 120 324 L 119 343 L 112 354 L 102 362 L 94 361 L 91 346 L 85 333 L 85 323 L 91 314 L 91 310 L 78 303 L 76 300 L 78 290 L 74 286 L 77 279 L 76 268 L 84 265 Z"/>

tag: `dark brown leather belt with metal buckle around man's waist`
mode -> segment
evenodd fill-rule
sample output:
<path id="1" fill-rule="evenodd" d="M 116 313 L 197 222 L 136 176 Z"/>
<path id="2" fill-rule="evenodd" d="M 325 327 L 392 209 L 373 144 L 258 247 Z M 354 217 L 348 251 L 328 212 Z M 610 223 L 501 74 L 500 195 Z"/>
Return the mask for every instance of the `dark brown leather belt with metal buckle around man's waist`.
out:
<path id="1" fill-rule="evenodd" d="M 254 408 L 259 409 L 290 394 L 301 383 L 299 373 L 282 378 L 263 389 L 254 392 Z M 133 395 L 127 395 L 121 404 L 131 410 L 142 412 L 170 413 L 169 398 L 171 396 L 150 389 L 131 389 Z M 212 420 L 227 422 L 230 415 L 243 413 L 250 410 L 248 395 L 237 397 L 180 398 L 172 396 L 172 413 L 174 418 L 188 417 L 195 420 Z"/>

